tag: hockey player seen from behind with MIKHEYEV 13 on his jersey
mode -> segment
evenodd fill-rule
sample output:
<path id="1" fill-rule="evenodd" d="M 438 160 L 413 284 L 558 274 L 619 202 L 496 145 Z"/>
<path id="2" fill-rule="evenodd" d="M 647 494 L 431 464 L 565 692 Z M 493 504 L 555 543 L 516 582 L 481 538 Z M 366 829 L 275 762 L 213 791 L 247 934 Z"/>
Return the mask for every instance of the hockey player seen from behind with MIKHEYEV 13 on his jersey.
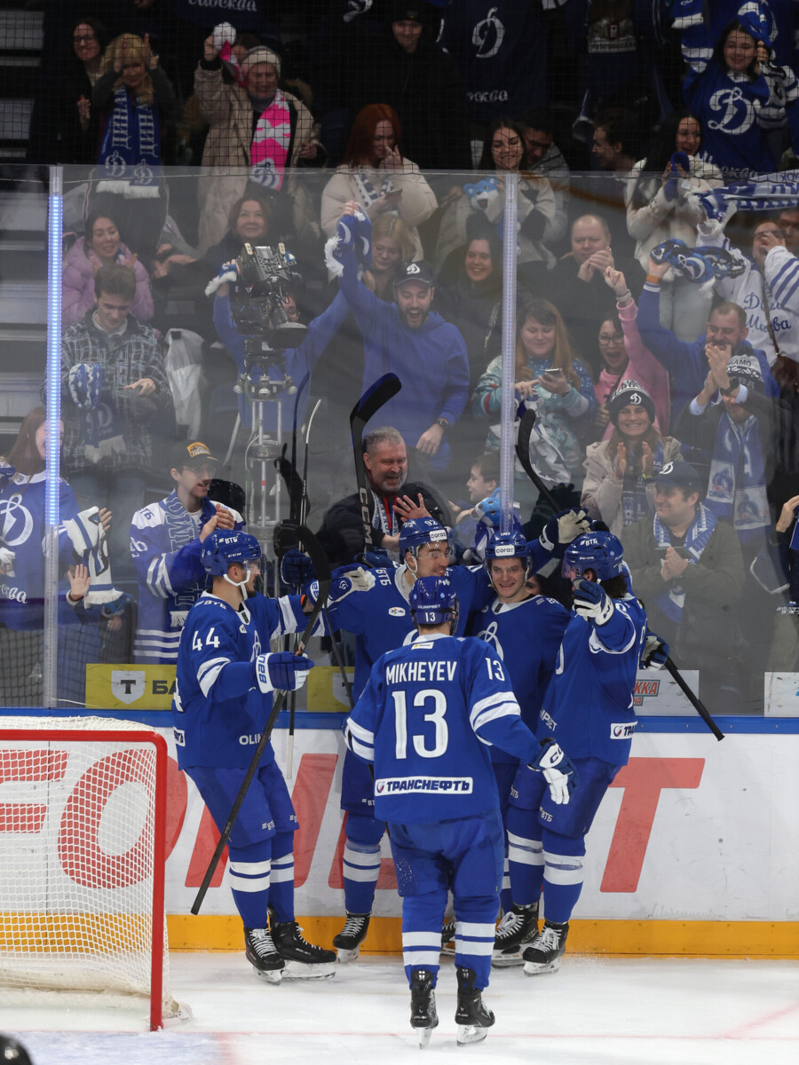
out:
<path id="1" fill-rule="evenodd" d="M 503 863 L 488 749 L 501 744 L 543 769 L 553 803 L 568 804 L 574 769 L 554 740 L 539 743 L 522 723 L 496 655 L 479 640 L 453 639 L 458 596 L 447 578 L 418 579 L 408 605 L 419 636 L 375 662 L 345 735 L 354 753 L 374 763 L 375 813 L 389 824 L 411 1027 L 426 1046 L 438 1025 L 434 987 L 452 889 L 458 1043 L 476 1043 L 494 1022 L 482 992 Z"/>

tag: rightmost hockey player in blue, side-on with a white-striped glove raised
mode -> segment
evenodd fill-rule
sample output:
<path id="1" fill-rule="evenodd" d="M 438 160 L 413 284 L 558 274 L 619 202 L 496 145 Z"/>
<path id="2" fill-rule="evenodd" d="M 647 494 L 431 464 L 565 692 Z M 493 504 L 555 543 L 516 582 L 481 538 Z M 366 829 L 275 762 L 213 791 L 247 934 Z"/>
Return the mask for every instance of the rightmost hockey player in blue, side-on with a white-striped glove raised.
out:
<path id="1" fill-rule="evenodd" d="M 630 757 L 633 689 L 647 640 L 643 607 L 629 590 L 621 543 L 613 534 L 574 540 L 566 548 L 564 573 L 574 603 L 536 734 L 554 736 L 569 752 L 580 786 L 568 807 L 555 805 L 540 777 L 522 766 L 507 815 L 513 910 L 523 920 L 543 888 L 543 928 L 523 954 L 528 976 L 554 972 L 566 950 L 583 886 L 585 836 Z"/>

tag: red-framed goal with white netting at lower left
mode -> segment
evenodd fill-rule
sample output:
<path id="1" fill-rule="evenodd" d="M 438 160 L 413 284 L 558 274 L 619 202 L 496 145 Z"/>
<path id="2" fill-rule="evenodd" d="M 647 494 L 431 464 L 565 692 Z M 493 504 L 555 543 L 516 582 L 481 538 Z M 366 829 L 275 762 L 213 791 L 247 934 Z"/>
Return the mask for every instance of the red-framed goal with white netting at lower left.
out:
<path id="1" fill-rule="evenodd" d="M 164 913 L 166 743 L 101 718 L 0 718 L 0 987 L 179 1015 Z"/>

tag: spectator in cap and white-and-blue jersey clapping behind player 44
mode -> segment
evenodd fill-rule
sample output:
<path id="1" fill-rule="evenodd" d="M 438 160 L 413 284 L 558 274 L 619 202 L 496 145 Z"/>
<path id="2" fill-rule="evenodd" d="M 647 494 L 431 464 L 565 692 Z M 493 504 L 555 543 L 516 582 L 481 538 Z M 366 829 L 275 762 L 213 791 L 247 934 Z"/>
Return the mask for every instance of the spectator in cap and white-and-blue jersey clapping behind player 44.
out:
<path id="1" fill-rule="evenodd" d="M 238 511 L 208 497 L 216 459 L 206 444 L 175 444 L 168 466 L 175 488 L 137 510 L 130 526 L 138 575 L 135 662 L 177 661 L 185 616 L 208 585 L 200 562 L 203 541 L 214 529 L 244 528 Z"/>

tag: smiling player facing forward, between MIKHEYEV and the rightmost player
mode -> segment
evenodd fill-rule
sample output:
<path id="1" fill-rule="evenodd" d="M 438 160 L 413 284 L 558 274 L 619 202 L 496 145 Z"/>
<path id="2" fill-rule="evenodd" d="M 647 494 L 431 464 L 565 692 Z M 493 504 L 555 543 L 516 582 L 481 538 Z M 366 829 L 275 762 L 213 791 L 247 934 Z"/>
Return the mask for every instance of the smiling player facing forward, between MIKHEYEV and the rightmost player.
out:
<path id="1" fill-rule="evenodd" d="M 555 670 L 569 611 L 556 600 L 535 594 L 527 586 L 527 541 L 522 535 L 493 532 L 486 548 L 485 564 L 496 596 L 474 618 L 471 632 L 488 643 L 503 662 L 521 707 L 522 721 L 534 730 L 544 691 Z M 496 746 L 490 753 L 505 825 L 519 756 Z M 521 965 L 522 945 L 538 932 L 537 903 L 525 910 L 511 907 L 512 884 L 507 853 L 506 833 L 502 891 L 505 916 L 496 930 L 493 954 L 493 964 L 500 966 Z"/>

